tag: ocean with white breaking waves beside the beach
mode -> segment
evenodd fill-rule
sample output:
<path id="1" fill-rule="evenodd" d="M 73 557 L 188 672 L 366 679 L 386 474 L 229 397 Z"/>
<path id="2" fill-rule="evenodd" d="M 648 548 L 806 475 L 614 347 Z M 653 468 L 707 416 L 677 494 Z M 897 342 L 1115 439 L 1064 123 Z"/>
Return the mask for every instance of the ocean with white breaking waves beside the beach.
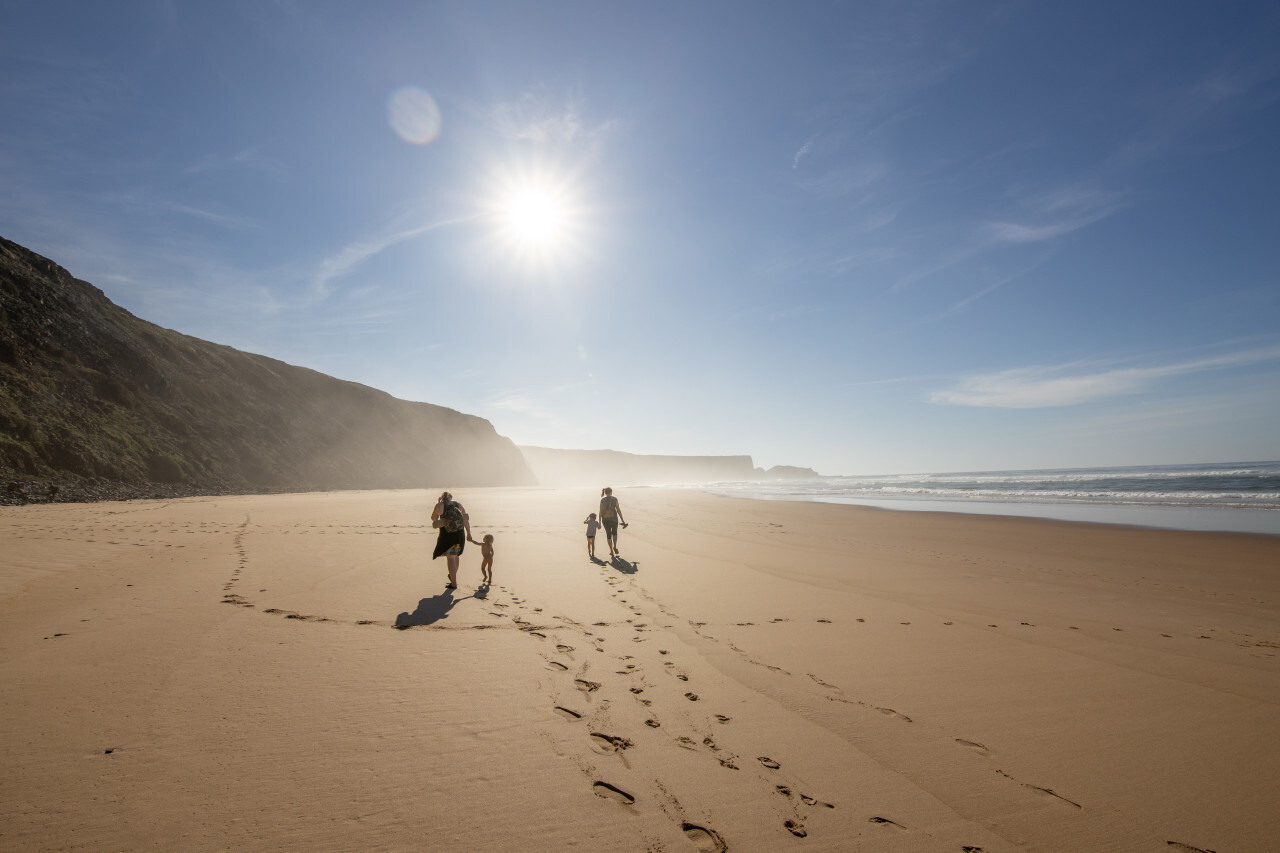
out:
<path id="1" fill-rule="evenodd" d="M 714 494 L 1280 535 L 1280 461 L 721 483 Z"/>

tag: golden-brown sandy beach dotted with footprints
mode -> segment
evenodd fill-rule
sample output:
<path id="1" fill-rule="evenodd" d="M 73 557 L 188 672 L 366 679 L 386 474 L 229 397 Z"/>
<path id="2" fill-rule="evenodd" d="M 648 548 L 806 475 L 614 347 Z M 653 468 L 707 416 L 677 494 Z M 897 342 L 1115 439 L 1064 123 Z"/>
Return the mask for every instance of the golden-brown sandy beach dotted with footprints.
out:
<path id="1" fill-rule="evenodd" d="M 0 848 L 1280 848 L 1280 538 L 434 493 L 0 510 Z"/>

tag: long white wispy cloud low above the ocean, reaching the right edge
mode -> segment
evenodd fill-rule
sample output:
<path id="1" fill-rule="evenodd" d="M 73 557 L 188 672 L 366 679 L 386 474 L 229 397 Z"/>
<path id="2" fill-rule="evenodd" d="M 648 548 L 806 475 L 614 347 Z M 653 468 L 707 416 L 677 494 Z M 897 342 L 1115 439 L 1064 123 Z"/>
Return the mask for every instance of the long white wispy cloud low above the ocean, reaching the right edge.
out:
<path id="1" fill-rule="evenodd" d="M 1047 409 L 1135 394 L 1171 377 L 1280 361 L 1280 346 L 1257 347 L 1207 359 L 1142 368 L 1092 370 L 1074 362 L 1059 366 L 1018 368 L 968 377 L 952 388 L 937 391 L 929 401 L 948 406 L 995 409 Z"/>

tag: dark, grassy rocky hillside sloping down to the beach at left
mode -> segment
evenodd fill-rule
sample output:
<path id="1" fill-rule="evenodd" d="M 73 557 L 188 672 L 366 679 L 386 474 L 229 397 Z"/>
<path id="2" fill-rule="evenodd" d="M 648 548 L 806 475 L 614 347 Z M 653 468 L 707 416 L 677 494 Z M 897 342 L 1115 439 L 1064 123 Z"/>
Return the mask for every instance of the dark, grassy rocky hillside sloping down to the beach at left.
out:
<path id="1" fill-rule="evenodd" d="M 4 238 L 0 478 L 6 502 L 534 483 L 481 418 L 163 329 Z"/>

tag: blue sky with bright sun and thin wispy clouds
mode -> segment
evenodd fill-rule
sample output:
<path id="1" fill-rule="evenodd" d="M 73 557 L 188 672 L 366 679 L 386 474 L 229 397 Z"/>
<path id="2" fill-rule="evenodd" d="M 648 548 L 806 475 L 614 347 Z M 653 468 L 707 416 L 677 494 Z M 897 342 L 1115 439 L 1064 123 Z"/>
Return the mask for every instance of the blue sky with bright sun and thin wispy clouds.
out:
<path id="1" fill-rule="evenodd" d="M 517 443 L 1280 457 L 1280 6 L 0 4 L 0 236 Z"/>

